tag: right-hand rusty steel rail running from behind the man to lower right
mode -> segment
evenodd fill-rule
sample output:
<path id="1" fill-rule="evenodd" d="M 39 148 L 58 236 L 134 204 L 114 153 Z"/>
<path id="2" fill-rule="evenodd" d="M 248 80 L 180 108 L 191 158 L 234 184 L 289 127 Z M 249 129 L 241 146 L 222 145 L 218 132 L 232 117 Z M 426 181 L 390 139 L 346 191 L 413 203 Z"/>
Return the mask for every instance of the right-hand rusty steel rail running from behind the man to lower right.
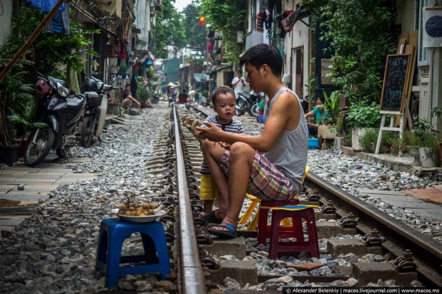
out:
<path id="1" fill-rule="evenodd" d="M 392 218 L 376 207 L 372 207 L 314 173 L 307 174 L 305 184 L 307 187 L 318 189 L 320 196 L 332 200 L 337 209 L 342 209 L 346 213 L 354 213 L 359 218 L 357 229 L 364 231 L 364 233 L 369 233 L 370 228 L 378 229 L 381 235 L 387 238 L 382 246 L 393 255 L 403 256 L 405 249 L 410 249 L 417 265 L 416 271 L 425 280 L 422 282 L 442 286 L 442 245 L 439 242 L 408 227 L 403 222 Z M 343 211 L 338 210 L 337 212 L 343 214 Z"/>

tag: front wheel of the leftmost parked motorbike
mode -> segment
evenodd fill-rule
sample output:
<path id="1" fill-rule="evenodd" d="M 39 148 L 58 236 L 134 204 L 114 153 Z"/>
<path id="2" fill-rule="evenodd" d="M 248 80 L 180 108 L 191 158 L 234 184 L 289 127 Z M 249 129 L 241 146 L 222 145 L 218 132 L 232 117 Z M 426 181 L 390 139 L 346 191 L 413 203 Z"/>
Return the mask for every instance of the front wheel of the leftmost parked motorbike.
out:
<path id="1" fill-rule="evenodd" d="M 28 146 L 25 152 L 25 165 L 35 167 L 46 158 L 52 145 L 54 145 L 55 133 L 50 127 L 34 129 L 29 136 Z M 35 142 L 35 143 L 33 143 Z"/>

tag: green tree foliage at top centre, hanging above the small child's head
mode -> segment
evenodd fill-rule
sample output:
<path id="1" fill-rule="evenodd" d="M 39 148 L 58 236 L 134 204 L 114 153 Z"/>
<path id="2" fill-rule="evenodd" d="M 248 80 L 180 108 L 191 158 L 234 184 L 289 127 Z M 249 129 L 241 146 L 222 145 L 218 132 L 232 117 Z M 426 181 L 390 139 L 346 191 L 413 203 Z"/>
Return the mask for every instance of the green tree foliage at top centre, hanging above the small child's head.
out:
<path id="1" fill-rule="evenodd" d="M 211 25 L 211 30 L 222 32 L 224 58 L 229 63 L 237 63 L 242 44 L 236 43 L 236 32 L 244 31 L 247 1 L 202 0 L 202 11 Z"/>

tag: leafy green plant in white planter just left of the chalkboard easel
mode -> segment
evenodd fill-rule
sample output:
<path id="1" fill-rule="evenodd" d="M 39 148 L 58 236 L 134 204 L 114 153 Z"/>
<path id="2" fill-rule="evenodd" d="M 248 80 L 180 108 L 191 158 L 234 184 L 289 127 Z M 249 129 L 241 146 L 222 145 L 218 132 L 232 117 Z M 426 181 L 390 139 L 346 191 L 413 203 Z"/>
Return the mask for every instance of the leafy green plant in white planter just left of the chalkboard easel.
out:
<path id="1" fill-rule="evenodd" d="M 354 102 L 349 108 L 345 120 L 347 121 L 347 127 L 352 129 L 352 149 L 362 151 L 359 138 L 361 138 L 369 128 L 378 128 L 381 124 L 379 105 L 374 102 L 367 105 L 366 101 Z"/>

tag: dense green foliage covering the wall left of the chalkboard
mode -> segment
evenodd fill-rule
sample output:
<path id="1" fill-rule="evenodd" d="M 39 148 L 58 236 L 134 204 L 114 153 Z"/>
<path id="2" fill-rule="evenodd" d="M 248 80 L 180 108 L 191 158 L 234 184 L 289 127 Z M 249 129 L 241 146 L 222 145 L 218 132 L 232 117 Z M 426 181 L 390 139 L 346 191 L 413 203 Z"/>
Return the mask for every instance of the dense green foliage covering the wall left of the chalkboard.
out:
<path id="1" fill-rule="evenodd" d="M 378 102 L 386 56 L 395 51 L 394 1 L 313 0 L 305 6 L 318 15 L 320 38 L 331 42 L 334 85 L 352 101 Z"/>

